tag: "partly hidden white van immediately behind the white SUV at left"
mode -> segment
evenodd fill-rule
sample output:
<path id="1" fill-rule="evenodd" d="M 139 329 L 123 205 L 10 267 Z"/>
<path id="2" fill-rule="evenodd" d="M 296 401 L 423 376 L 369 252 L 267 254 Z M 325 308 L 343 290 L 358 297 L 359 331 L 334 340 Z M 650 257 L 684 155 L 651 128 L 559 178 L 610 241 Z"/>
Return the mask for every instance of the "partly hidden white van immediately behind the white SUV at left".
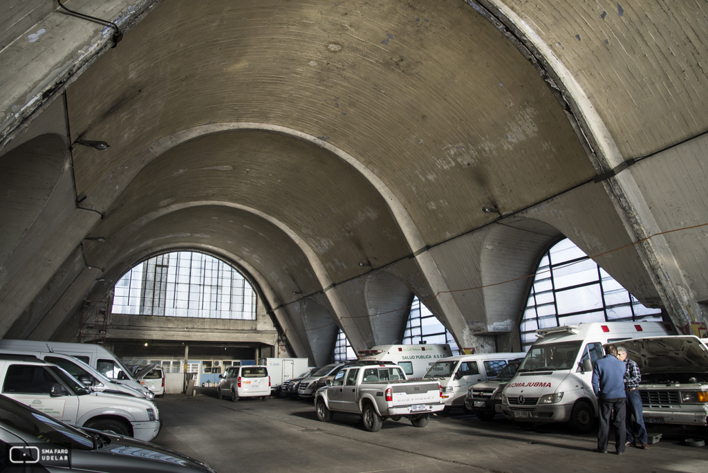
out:
<path id="1" fill-rule="evenodd" d="M 117 381 L 110 380 L 90 365 L 87 365 L 81 360 L 77 360 L 72 355 L 64 355 L 64 353 L 2 349 L 0 349 L 0 354 L 29 355 L 38 358 L 38 360 L 45 360 L 47 363 L 54 363 L 55 365 L 62 367 L 64 371 L 69 373 L 69 375 L 75 377 L 76 380 L 79 380 L 81 384 L 84 384 L 86 387 L 90 387 L 94 392 L 122 394 L 124 396 L 147 399 L 147 396 L 142 389 L 135 389 L 127 386 L 126 384 L 120 384 Z"/>

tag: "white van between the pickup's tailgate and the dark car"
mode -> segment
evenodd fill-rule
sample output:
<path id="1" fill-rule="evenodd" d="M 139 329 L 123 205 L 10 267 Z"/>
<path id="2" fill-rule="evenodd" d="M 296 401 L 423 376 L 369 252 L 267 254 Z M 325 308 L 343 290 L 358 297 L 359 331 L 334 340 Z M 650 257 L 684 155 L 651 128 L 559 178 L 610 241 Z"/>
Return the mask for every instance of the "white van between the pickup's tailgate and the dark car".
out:
<path id="1" fill-rule="evenodd" d="M 453 407 L 464 407 L 467 389 L 472 384 L 489 380 L 504 369 L 510 360 L 523 358 L 526 353 L 480 353 L 479 355 L 459 355 L 442 358 L 430 367 L 424 380 L 435 380 L 442 388 L 442 401 L 447 414 Z M 470 413 L 471 414 L 471 413 Z"/>

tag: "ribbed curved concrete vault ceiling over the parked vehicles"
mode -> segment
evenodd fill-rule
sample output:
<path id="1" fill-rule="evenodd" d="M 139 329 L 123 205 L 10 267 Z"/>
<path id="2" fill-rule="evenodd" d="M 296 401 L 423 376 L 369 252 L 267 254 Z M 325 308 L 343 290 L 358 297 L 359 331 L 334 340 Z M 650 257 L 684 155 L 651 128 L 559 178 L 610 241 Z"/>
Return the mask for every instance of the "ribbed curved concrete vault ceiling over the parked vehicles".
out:
<path id="1" fill-rule="evenodd" d="M 25 90 L 20 69 L 3 72 L 0 102 L 20 110 L 5 115 L 4 169 L 19 169 L 30 144 L 50 147 L 50 133 L 74 143 L 67 182 L 10 217 L 3 334 L 71 338 L 84 297 L 160 251 L 192 248 L 249 273 L 313 363 L 329 361 L 337 327 L 355 350 L 398 341 L 413 294 L 459 346 L 515 351 L 519 278 L 561 236 L 602 254 L 681 331 L 705 322 L 706 227 L 632 245 L 708 223 L 708 78 L 696 65 L 708 36 L 694 34 L 707 22 L 690 2 L 101 8 L 129 6 L 110 50 L 94 25 L 55 11 L 39 44 L 0 38 L 14 41 L 0 55 L 34 74 Z M 67 40 L 93 46 L 50 54 Z M 35 50 L 56 64 L 42 72 Z M 72 202 L 81 193 L 88 210 Z M 87 235 L 106 242 L 81 253 Z"/>

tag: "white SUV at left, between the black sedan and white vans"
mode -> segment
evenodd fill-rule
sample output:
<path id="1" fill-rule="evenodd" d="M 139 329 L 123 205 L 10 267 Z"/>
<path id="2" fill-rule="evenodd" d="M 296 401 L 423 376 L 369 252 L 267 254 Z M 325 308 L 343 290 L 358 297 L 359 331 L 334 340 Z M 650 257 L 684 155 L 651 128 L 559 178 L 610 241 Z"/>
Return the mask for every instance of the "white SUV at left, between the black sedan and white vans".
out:
<path id="1" fill-rule="evenodd" d="M 77 427 L 152 440 L 160 431 L 152 401 L 91 392 L 62 367 L 30 355 L 0 354 L 2 394 Z"/>

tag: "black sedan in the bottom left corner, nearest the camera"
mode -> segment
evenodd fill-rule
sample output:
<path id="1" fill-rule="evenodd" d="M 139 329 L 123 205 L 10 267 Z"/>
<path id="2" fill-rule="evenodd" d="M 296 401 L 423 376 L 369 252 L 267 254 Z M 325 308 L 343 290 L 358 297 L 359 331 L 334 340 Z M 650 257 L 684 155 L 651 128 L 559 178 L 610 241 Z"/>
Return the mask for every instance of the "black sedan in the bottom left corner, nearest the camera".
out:
<path id="1" fill-rule="evenodd" d="M 7 445 L 5 455 L 0 455 L 0 471 L 25 465 L 29 471 L 42 465 L 67 472 L 216 473 L 181 453 L 135 438 L 72 427 L 1 394 L 0 440 Z"/>

